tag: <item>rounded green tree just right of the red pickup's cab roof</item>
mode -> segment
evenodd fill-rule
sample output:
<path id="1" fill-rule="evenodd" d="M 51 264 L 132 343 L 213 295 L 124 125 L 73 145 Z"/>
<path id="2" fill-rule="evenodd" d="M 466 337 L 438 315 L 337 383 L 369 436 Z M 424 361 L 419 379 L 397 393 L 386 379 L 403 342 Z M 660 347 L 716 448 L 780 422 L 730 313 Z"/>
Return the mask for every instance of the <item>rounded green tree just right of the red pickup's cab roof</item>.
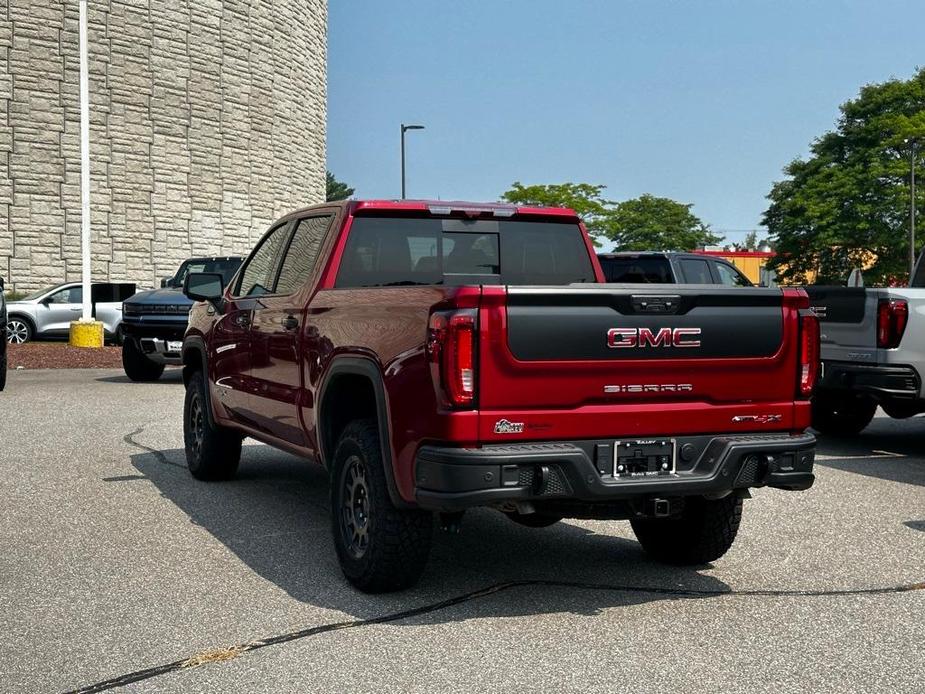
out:
<path id="1" fill-rule="evenodd" d="M 604 233 L 627 251 L 690 251 L 721 241 L 691 207 L 646 193 L 608 210 Z"/>

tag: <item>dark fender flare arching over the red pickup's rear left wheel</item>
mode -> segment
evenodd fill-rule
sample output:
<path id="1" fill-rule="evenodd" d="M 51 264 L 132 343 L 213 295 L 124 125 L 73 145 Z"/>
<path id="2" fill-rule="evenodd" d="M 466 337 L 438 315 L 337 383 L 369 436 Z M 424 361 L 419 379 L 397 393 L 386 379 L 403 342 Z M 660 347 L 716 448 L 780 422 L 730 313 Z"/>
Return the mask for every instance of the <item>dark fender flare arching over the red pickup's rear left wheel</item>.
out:
<path id="1" fill-rule="evenodd" d="M 363 376 L 372 384 L 373 395 L 376 399 L 376 423 L 379 427 L 379 447 L 382 453 L 383 467 L 385 468 L 385 479 L 389 488 L 389 498 L 397 508 L 409 508 L 411 505 L 401 497 L 401 494 L 398 492 L 398 484 L 395 481 L 395 468 L 392 461 L 392 438 L 391 429 L 389 427 L 389 407 L 385 392 L 385 382 L 382 378 L 382 371 L 379 369 L 379 365 L 369 357 L 354 355 L 334 357 L 325 370 L 324 377 L 321 381 L 321 387 L 318 389 L 317 415 L 315 416 L 315 430 L 318 432 L 318 449 L 321 453 L 321 461 L 324 466 L 328 468 L 327 461 L 331 460 L 334 454 L 333 450 L 327 450 L 327 436 L 324 427 L 321 426 L 324 417 L 323 408 L 325 396 L 327 395 L 328 388 L 331 383 L 335 381 L 337 376 L 348 374 L 351 376 Z"/>

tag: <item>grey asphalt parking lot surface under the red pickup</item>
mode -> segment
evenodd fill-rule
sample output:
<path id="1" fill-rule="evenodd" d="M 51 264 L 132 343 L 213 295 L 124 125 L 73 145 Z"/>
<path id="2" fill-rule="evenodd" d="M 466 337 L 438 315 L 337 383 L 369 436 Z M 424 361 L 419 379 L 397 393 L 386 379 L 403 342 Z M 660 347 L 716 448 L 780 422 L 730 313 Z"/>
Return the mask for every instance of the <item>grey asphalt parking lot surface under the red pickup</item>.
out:
<path id="1" fill-rule="evenodd" d="M 195 482 L 183 389 L 19 371 L 0 394 L 0 689 L 921 692 L 925 419 L 821 442 L 733 549 L 650 562 L 628 523 L 471 513 L 420 585 L 348 587 L 323 471 L 247 445 Z M 922 586 L 925 588 L 925 585 Z"/>

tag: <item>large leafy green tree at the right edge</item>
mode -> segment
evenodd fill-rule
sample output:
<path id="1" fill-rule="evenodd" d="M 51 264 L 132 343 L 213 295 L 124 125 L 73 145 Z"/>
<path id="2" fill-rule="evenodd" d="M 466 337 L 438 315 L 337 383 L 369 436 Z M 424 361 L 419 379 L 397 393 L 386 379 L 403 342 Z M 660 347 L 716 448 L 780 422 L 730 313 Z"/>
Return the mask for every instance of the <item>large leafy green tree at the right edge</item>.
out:
<path id="1" fill-rule="evenodd" d="M 762 221 L 778 277 L 842 283 L 852 268 L 867 267 L 868 285 L 905 279 L 913 142 L 925 150 L 925 69 L 867 85 L 843 104 L 835 131 L 788 164 L 768 195 Z"/>

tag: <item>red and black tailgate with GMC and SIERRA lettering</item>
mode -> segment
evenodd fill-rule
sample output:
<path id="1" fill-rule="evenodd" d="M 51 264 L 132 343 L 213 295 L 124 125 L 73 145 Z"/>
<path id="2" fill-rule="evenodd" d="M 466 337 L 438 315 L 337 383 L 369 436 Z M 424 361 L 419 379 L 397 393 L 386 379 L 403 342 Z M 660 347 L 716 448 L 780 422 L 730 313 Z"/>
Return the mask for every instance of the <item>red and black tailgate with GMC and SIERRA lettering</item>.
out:
<path id="1" fill-rule="evenodd" d="M 805 305 L 779 289 L 485 287 L 480 438 L 505 438 L 499 419 L 533 439 L 800 429 Z"/>

